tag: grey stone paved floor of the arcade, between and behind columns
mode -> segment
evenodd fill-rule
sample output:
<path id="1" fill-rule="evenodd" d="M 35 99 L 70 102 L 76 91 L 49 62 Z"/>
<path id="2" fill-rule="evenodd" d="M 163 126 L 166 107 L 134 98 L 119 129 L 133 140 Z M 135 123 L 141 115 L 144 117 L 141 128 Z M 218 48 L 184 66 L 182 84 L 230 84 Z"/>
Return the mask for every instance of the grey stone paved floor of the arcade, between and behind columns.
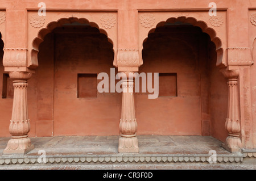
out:
<path id="1" fill-rule="evenodd" d="M 0 155 L 10 138 L 0 138 Z M 221 142 L 203 136 L 151 136 L 138 135 L 139 154 L 230 154 L 221 148 Z M 35 149 L 26 155 L 38 155 L 45 150 L 56 154 L 117 154 L 118 136 L 56 136 L 31 138 Z"/>

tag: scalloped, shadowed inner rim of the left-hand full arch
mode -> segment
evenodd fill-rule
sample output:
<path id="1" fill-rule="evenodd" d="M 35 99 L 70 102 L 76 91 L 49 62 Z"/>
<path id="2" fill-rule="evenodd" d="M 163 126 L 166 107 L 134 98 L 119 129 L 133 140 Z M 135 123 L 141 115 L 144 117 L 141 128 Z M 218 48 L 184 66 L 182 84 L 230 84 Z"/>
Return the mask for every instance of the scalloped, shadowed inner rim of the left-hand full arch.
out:
<path id="1" fill-rule="evenodd" d="M 35 39 L 32 41 L 32 49 L 31 49 L 31 61 L 32 62 L 36 62 L 36 65 L 30 65 L 29 68 L 31 69 L 35 69 L 38 66 L 38 52 L 39 52 L 39 45 L 44 41 L 44 37 L 52 32 L 55 28 L 57 27 L 62 27 L 63 24 L 67 24 L 67 23 L 74 23 L 74 22 L 78 22 L 81 24 L 89 24 L 89 26 L 97 28 L 100 33 L 106 35 L 106 37 L 108 37 L 108 41 L 109 43 L 111 43 L 114 47 L 114 43 L 113 40 L 108 36 L 108 33 L 101 29 L 97 23 L 95 22 L 90 22 L 88 19 L 86 18 L 78 18 L 75 16 L 69 17 L 69 18 L 60 18 L 59 20 L 55 21 L 55 22 L 49 22 L 46 26 L 46 28 L 42 28 L 38 31 L 38 36 L 35 37 Z M 114 49 L 113 49 L 114 52 Z"/>

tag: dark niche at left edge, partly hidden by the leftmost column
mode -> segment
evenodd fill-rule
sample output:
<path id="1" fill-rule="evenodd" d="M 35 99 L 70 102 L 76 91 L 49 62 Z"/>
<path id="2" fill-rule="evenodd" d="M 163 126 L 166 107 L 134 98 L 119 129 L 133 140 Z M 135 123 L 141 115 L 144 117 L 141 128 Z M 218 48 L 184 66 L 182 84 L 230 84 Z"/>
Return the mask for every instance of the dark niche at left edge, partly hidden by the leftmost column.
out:
<path id="1" fill-rule="evenodd" d="M 9 74 L 3 74 L 2 99 L 13 99 L 14 87 Z"/>

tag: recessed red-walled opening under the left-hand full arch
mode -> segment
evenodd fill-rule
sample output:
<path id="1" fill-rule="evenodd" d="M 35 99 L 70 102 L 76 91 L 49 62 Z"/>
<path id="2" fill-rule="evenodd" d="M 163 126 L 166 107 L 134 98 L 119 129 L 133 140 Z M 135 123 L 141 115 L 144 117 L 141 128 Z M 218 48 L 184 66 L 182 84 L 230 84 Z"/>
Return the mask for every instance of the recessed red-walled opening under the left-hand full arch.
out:
<path id="1" fill-rule="evenodd" d="M 34 42 L 36 136 L 118 134 L 119 94 L 97 91 L 97 75 L 113 68 L 113 44 L 86 21 L 54 27 L 40 45 Z"/>

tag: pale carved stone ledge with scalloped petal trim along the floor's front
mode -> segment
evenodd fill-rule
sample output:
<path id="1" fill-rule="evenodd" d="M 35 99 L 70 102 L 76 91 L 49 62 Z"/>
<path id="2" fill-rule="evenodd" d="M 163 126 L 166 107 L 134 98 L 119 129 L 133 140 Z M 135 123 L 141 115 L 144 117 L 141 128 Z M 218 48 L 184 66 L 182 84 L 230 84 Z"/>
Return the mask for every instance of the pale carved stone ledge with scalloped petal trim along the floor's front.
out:
<path id="1" fill-rule="evenodd" d="M 45 158 L 44 164 L 69 164 L 69 163 L 203 163 L 208 162 L 210 155 L 141 155 L 130 157 L 116 157 L 113 155 L 92 155 L 81 156 L 81 155 L 65 155 L 56 157 L 54 155 Z M 39 163 L 39 156 L 35 157 L 15 157 L 11 155 L 9 157 L 1 158 L 0 165 L 11 165 L 11 164 L 36 164 Z M 217 155 L 217 163 L 241 163 L 243 161 L 242 155 Z"/>

